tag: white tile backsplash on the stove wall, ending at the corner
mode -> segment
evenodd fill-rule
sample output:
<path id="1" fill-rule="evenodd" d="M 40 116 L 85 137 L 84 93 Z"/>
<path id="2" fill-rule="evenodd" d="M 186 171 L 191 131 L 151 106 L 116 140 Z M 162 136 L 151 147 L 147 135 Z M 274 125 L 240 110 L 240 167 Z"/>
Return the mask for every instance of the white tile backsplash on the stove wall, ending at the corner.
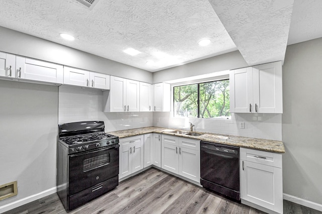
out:
<path id="1" fill-rule="evenodd" d="M 91 88 L 59 86 L 58 123 L 104 121 L 105 131 L 152 126 L 153 113 L 105 113 L 103 91 Z"/>

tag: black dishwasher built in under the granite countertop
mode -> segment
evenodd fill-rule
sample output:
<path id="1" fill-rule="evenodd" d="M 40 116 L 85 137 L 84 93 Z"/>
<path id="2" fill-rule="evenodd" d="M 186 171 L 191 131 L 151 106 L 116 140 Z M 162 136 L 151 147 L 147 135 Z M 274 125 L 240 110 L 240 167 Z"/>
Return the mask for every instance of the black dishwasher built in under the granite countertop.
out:
<path id="1" fill-rule="evenodd" d="M 239 147 L 200 142 L 200 183 L 240 201 Z"/>

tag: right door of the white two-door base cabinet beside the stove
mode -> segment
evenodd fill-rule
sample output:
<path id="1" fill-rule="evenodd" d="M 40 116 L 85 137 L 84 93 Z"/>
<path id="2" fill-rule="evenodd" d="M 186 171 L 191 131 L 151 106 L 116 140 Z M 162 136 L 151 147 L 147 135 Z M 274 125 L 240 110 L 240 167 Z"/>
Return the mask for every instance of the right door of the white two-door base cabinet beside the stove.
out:
<path id="1" fill-rule="evenodd" d="M 131 141 L 132 142 L 132 141 Z M 143 135 L 132 144 L 132 173 L 143 169 L 144 166 L 144 149 L 143 149 Z"/>

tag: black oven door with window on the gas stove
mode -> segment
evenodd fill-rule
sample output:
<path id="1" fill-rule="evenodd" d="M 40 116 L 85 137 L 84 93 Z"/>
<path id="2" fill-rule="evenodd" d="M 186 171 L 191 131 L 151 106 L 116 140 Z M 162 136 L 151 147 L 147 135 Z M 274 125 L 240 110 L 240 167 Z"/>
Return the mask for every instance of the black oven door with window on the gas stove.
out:
<path id="1" fill-rule="evenodd" d="M 119 147 L 120 145 L 115 145 L 70 155 L 68 159 L 68 195 L 118 176 Z"/>

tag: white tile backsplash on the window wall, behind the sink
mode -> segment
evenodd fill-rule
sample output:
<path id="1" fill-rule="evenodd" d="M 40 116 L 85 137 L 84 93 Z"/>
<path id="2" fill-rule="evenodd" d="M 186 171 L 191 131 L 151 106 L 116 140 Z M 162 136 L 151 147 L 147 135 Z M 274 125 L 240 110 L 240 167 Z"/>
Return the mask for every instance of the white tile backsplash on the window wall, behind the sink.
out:
<path id="1" fill-rule="evenodd" d="M 173 117 L 173 112 L 154 112 L 153 126 L 235 135 L 250 138 L 282 140 L 281 114 L 231 114 L 231 120 Z M 241 129 L 240 123 L 245 124 Z"/>

